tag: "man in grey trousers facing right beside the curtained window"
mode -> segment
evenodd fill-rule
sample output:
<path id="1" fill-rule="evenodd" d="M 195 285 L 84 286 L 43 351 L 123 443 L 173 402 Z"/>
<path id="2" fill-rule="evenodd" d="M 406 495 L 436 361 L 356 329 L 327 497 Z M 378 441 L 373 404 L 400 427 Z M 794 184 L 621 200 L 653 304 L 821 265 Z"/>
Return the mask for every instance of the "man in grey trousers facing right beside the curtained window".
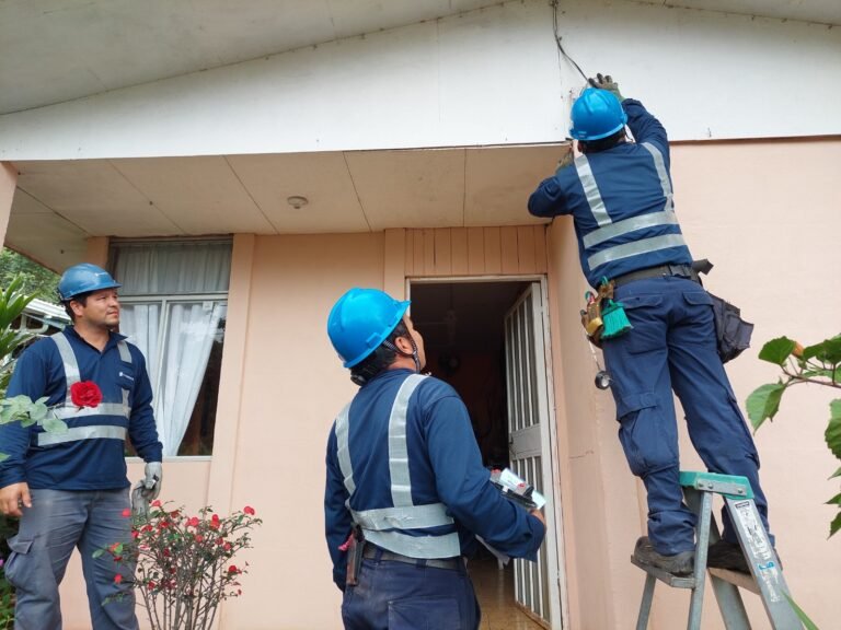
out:
<path id="1" fill-rule="evenodd" d="M 21 518 L 5 567 L 16 590 L 18 630 L 61 628 L 58 586 L 73 547 L 82 556 L 93 629 L 138 627 L 130 570 L 107 553 L 93 558 L 96 549 L 130 540 L 126 436 L 147 462 L 148 498 L 160 492 L 163 476 L 146 361 L 114 332 L 118 287 L 94 265 L 65 271 L 58 292 L 73 325 L 26 349 L 7 392 L 46 396 L 68 427 L 61 433 L 0 427 L 0 452 L 9 455 L 0 463 L 0 511 Z"/>

